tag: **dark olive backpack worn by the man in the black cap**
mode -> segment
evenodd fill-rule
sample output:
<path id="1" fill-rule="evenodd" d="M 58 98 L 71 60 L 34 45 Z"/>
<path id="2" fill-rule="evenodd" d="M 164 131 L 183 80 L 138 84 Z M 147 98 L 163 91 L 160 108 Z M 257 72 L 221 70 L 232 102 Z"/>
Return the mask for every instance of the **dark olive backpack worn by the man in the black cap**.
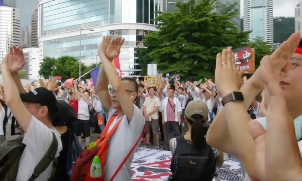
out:
<path id="1" fill-rule="evenodd" d="M 54 173 L 56 171 L 57 160 L 55 158 L 58 141 L 56 136 L 53 133 L 53 141 L 50 144 L 50 147 L 46 151 L 43 158 L 37 164 L 34 169 L 29 181 L 34 181 L 44 170 L 47 169 L 49 164 L 53 161 L 53 170 L 49 180 L 53 180 Z M 23 135 L 14 135 L 0 146 L 0 180 L 12 181 L 16 180 L 19 161 L 21 155 L 24 151 L 25 144 L 22 143 L 24 136 Z"/>

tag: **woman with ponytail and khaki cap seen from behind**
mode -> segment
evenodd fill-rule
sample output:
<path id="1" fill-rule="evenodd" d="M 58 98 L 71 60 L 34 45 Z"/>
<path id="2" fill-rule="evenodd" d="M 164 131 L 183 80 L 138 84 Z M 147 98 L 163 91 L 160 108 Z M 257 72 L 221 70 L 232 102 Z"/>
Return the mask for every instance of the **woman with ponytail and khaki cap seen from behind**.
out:
<path id="1" fill-rule="evenodd" d="M 207 145 L 206 142 L 205 136 L 210 126 L 208 123 L 207 105 L 201 100 L 190 101 L 185 109 L 184 117 L 185 117 L 185 122 L 188 124 L 188 129 L 189 129 L 187 134 L 183 136 L 182 135 L 178 136 L 177 138 L 173 138 L 169 142 L 170 150 L 173 155 L 172 162 L 171 162 L 171 172 L 173 174 L 173 180 L 179 180 L 179 174 L 177 174 L 177 171 L 184 170 L 183 167 L 186 167 L 183 165 L 179 165 L 180 163 L 184 163 L 179 161 L 180 157 L 182 157 L 182 159 L 186 159 L 185 156 L 190 158 L 192 157 L 192 155 L 196 156 L 196 158 L 198 158 L 198 156 L 199 157 L 207 156 L 208 161 L 210 160 L 206 164 L 207 166 L 205 166 L 207 168 L 204 168 L 202 166 L 196 166 L 197 170 L 205 173 L 215 172 L 215 166 L 221 167 L 223 164 L 223 152 L 220 153 L 220 151 L 217 150 L 216 148 L 211 148 L 209 145 Z M 210 153 L 208 150 L 210 150 Z M 190 166 L 188 171 L 190 173 L 192 172 L 196 173 L 196 171 L 194 171 L 193 169 L 190 170 L 191 168 L 193 167 Z M 199 173 L 199 175 L 200 174 L 203 175 L 202 173 Z M 177 178 L 175 178 L 176 175 Z M 207 179 L 205 177 L 206 176 L 204 176 L 202 180 L 211 179 L 208 177 Z"/>

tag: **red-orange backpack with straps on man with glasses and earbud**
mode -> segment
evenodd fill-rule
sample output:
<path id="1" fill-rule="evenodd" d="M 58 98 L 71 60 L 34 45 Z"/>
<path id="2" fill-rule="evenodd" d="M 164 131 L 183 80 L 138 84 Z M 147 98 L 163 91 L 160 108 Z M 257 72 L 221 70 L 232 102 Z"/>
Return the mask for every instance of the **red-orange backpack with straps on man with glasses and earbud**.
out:
<path id="1" fill-rule="evenodd" d="M 110 125 L 112 124 L 112 122 L 114 121 L 114 119 L 116 117 L 117 117 L 117 114 L 114 114 L 113 116 L 111 116 L 111 118 L 109 119 L 108 123 L 106 124 L 106 126 L 101 134 L 101 138 L 98 138 L 93 143 L 93 144 L 95 144 L 95 148 L 92 148 L 92 149 L 86 148 L 82 152 L 80 157 L 78 157 L 78 159 L 76 160 L 76 163 L 73 167 L 72 176 L 70 179 L 71 181 L 104 181 L 105 180 L 104 168 L 105 168 L 106 155 L 107 155 L 108 148 L 109 148 L 109 139 L 117 130 L 117 128 L 120 125 L 120 122 L 122 121 L 124 116 L 120 117 L 117 124 L 107 134 Z M 112 181 L 115 178 L 115 176 L 117 176 L 120 169 L 123 167 L 123 165 L 126 163 L 128 158 L 130 157 L 130 155 L 133 153 L 136 146 L 139 144 L 141 138 L 142 138 L 142 136 L 140 136 L 138 138 L 137 142 L 134 144 L 134 146 L 132 147 L 130 152 L 127 154 L 127 156 L 125 157 L 123 162 L 117 168 L 117 170 L 115 171 L 115 173 L 112 176 L 112 178 L 110 179 L 110 181 Z M 90 176 L 90 167 L 91 167 L 93 158 L 95 156 L 98 156 L 100 159 L 100 162 L 101 162 L 101 170 L 102 170 L 101 178 L 92 178 Z M 107 180 L 108 180 L 108 178 L 107 178 Z"/>

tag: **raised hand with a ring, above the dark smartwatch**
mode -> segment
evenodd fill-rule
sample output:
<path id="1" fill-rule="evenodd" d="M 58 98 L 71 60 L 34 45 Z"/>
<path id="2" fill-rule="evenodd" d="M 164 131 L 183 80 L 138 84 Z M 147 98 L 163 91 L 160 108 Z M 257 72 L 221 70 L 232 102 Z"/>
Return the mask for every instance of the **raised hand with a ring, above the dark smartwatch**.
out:
<path id="1" fill-rule="evenodd" d="M 221 96 L 224 97 L 241 87 L 241 78 L 244 71 L 238 71 L 235 65 L 235 56 L 232 49 L 223 49 L 222 54 L 217 54 L 215 83 Z"/>

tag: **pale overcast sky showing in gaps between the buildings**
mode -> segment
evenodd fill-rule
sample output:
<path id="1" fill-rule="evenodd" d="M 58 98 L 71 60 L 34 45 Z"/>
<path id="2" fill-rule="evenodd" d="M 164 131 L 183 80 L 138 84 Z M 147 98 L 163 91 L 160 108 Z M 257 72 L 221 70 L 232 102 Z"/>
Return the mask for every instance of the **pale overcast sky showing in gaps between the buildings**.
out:
<path id="1" fill-rule="evenodd" d="M 243 16 L 243 0 L 241 16 Z M 294 8 L 300 0 L 273 0 L 275 16 L 294 16 Z M 31 24 L 31 14 L 38 7 L 38 0 L 17 0 L 17 8 L 21 10 L 21 29 Z"/>

